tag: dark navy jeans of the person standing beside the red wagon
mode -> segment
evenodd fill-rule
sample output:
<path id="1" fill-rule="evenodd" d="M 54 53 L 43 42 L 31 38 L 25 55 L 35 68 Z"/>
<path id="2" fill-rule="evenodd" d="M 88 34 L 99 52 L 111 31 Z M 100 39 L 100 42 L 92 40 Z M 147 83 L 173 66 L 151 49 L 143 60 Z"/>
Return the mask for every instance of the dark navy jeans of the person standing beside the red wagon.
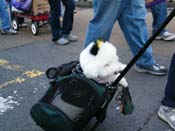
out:
<path id="1" fill-rule="evenodd" d="M 65 12 L 61 27 L 61 2 L 60 0 L 49 0 L 52 41 L 57 41 L 62 35 L 70 34 L 73 27 L 74 0 L 62 0 L 62 2 L 65 6 Z"/>

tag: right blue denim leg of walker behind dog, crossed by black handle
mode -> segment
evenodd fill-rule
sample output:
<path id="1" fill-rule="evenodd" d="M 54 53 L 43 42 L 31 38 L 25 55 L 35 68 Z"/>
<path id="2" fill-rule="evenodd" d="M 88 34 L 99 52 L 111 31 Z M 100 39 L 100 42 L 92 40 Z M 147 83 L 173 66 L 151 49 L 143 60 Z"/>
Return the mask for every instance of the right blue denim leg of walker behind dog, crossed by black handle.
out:
<path id="1" fill-rule="evenodd" d="M 148 39 L 146 25 L 146 8 L 144 0 L 126 0 L 125 10 L 119 16 L 119 25 L 125 35 L 127 43 L 135 56 Z M 136 62 L 142 67 L 149 67 L 155 63 L 152 48 L 149 46 Z"/>

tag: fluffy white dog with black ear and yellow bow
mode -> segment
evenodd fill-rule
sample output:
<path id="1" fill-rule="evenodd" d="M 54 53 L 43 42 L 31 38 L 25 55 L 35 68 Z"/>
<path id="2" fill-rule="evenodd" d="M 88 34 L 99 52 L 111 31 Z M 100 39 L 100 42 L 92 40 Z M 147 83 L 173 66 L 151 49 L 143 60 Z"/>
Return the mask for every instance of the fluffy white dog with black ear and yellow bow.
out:
<path id="1" fill-rule="evenodd" d="M 87 78 L 99 83 L 114 82 L 126 65 L 119 62 L 117 49 L 109 42 L 97 40 L 90 43 L 80 53 L 80 65 Z M 123 87 L 128 83 L 125 78 L 119 82 Z"/>

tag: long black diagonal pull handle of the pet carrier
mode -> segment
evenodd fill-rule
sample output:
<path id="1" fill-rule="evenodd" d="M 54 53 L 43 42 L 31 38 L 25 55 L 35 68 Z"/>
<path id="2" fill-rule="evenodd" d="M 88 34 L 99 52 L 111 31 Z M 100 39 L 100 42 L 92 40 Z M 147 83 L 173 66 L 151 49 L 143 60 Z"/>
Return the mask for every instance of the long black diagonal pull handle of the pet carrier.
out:
<path id="1" fill-rule="evenodd" d="M 126 75 L 126 73 L 130 70 L 130 68 L 136 63 L 136 61 L 143 55 L 145 50 L 150 46 L 150 44 L 154 41 L 154 39 L 160 34 L 160 32 L 168 25 L 168 23 L 173 19 L 175 16 L 175 8 L 173 11 L 168 15 L 166 20 L 163 22 L 161 27 L 147 40 L 145 45 L 140 49 L 137 55 L 129 62 L 126 68 L 121 72 L 119 77 L 113 82 L 112 86 L 118 85 L 119 81 Z"/>

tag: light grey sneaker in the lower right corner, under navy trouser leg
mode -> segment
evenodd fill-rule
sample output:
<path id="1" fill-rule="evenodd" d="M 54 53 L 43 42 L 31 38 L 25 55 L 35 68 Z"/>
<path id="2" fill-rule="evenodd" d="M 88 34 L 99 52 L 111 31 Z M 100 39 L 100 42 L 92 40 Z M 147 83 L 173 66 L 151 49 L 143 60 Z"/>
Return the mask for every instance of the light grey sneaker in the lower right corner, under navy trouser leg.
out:
<path id="1" fill-rule="evenodd" d="M 157 115 L 160 119 L 167 122 L 175 130 L 175 108 L 160 106 Z"/>

